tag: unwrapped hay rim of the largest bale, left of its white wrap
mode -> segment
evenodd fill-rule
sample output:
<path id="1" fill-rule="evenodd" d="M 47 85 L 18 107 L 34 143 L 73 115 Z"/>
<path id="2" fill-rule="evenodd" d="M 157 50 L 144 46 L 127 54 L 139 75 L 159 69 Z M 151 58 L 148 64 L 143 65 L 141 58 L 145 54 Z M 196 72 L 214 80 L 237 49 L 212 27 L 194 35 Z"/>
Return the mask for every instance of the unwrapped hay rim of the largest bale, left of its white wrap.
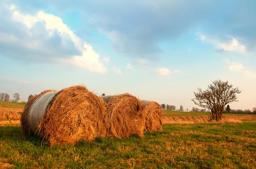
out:
<path id="1" fill-rule="evenodd" d="M 32 133 L 29 127 L 29 110 L 32 106 L 32 104 L 35 102 L 36 99 L 38 99 L 40 96 L 43 96 L 46 93 L 54 92 L 57 90 L 44 90 L 39 95 L 32 97 L 29 99 L 29 101 L 26 103 L 23 112 L 20 114 L 20 123 L 21 123 L 21 130 L 23 132 L 23 135 L 25 137 L 29 137 Z"/>

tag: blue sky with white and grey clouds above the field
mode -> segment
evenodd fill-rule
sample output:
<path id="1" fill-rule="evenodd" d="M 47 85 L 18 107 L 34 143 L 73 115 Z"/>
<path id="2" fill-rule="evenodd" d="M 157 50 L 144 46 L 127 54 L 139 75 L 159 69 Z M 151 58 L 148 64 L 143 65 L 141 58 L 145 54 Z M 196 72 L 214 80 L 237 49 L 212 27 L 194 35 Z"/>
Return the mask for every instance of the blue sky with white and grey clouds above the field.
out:
<path id="1" fill-rule="evenodd" d="M 1 0 L 0 93 L 85 85 L 189 110 L 198 87 L 256 107 L 255 0 Z M 12 99 L 12 98 L 11 98 Z"/>

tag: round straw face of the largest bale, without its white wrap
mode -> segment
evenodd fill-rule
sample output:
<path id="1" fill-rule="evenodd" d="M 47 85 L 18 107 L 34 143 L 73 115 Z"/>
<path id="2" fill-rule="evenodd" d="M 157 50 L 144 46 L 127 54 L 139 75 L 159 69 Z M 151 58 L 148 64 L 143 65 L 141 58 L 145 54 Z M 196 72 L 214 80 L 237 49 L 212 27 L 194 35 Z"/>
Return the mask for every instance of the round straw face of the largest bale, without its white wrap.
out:
<path id="1" fill-rule="evenodd" d="M 68 87 L 49 101 L 37 133 L 50 146 L 92 141 L 98 136 L 105 137 L 105 115 L 102 99 L 84 86 Z"/>

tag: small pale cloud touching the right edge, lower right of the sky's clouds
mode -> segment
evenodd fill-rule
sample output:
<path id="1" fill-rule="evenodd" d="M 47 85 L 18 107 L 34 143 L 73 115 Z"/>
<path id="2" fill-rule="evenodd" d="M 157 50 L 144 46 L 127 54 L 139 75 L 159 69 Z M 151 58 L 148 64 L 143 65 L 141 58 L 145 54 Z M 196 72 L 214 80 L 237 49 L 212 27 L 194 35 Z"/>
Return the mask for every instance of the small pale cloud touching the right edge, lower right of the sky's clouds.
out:
<path id="1" fill-rule="evenodd" d="M 229 59 L 223 59 L 223 60 L 227 62 L 228 70 L 240 72 L 244 74 L 244 76 L 247 76 L 252 79 L 256 78 L 256 73 L 253 73 L 250 70 L 247 70 L 247 67 L 245 67 L 241 62 L 230 62 Z"/>

